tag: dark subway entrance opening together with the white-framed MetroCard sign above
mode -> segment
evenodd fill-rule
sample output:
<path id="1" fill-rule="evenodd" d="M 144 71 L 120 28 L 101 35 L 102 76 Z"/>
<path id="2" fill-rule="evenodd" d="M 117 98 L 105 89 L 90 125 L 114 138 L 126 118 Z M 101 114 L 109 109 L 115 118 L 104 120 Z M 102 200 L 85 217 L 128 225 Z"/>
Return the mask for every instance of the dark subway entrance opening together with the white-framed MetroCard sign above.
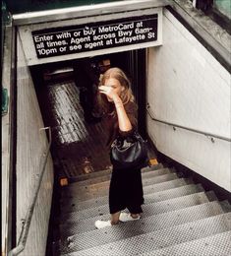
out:
<path id="1" fill-rule="evenodd" d="M 44 124 L 52 129 L 60 178 L 111 167 L 105 124 L 94 107 L 99 77 L 109 67 L 122 69 L 132 82 L 145 137 L 146 48 L 162 43 L 162 6 L 154 7 L 90 19 L 77 12 L 76 20 L 19 28 L 20 39 L 28 38 L 25 57 Z"/>

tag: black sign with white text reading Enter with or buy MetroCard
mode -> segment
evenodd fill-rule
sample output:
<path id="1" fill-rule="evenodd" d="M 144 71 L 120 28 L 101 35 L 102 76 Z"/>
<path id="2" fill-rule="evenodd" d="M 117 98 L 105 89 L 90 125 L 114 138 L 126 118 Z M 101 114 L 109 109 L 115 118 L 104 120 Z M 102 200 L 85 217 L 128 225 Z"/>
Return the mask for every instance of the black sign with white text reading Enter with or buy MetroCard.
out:
<path id="1" fill-rule="evenodd" d="M 47 58 L 129 45 L 158 39 L 158 14 L 32 31 L 37 58 Z"/>

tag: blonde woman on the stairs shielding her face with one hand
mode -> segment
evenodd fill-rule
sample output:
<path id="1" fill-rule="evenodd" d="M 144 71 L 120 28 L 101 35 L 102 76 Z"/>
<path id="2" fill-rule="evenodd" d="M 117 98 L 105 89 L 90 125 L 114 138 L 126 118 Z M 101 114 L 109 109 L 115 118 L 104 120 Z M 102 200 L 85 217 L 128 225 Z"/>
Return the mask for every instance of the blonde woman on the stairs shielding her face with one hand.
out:
<path id="1" fill-rule="evenodd" d="M 137 129 L 137 104 L 130 88 L 130 81 L 119 68 L 107 70 L 99 87 L 101 105 L 108 118 L 109 139 L 108 145 L 119 135 L 126 137 Z M 110 189 L 109 209 L 110 221 L 96 221 L 95 226 L 118 224 L 119 221 L 135 221 L 143 213 L 144 192 L 141 169 L 113 168 Z M 128 208 L 130 214 L 121 213 Z"/>

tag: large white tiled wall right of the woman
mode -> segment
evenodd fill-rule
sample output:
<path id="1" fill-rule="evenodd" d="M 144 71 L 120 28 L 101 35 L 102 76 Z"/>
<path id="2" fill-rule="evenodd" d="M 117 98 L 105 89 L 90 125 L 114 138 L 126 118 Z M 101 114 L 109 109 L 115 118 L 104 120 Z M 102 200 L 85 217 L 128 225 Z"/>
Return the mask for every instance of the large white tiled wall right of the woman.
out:
<path id="1" fill-rule="evenodd" d="M 147 101 L 158 119 L 230 138 L 230 74 L 167 10 L 163 45 L 148 49 Z M 147 118 L 157 149 L 231 191 L 230 143 Z"/>

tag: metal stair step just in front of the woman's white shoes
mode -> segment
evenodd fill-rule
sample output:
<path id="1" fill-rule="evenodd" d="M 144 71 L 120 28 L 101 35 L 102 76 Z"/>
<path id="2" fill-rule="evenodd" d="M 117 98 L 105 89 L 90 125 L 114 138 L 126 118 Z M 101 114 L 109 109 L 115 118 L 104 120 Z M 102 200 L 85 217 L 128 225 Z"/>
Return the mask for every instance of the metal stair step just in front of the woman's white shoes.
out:
<path id="1" fill-rule="evenodd" d="M 83 222 L 76 224 L 76 234 L 60 242 L 63 254 L 73 251 L 87 249 L 93 246 L 106 244 L 112 241 L 129 238 L 154 230 L 167 228 L 173 225 L 192 223 L 204 218 L 223 214 L 219 202 L 209 202 L 202 205 L 188 207 L 185 209 L 163 213 L 144 218 L 136 222 L 128 222 L 108 226 L 102 229 L 93 229 L 94 223 L 89 223 L 89 228 Z"/>

